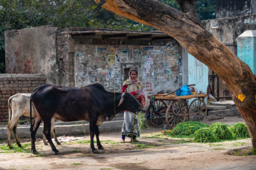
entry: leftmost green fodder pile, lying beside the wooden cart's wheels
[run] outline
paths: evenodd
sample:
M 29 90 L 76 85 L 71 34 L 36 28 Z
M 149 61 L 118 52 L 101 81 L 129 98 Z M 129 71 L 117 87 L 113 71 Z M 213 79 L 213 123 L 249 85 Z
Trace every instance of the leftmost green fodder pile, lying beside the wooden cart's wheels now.
M 170 131 L 171 136 L 191 136 L 193 138 L 193 134 L 198 129 L 202 127 L 209 127 L 207 124 L 203 124 L 201 122 L 182 122 L 177 124 L 172 131 Z

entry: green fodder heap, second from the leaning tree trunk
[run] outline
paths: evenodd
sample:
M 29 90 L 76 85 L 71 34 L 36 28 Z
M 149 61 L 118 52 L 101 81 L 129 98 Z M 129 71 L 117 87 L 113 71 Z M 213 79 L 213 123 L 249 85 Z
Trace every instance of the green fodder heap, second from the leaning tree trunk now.
M 210 127 L 212 133 L 219 139 L 236 139 L 236 135 L 231 131 L 230 126 L 216 122 Z

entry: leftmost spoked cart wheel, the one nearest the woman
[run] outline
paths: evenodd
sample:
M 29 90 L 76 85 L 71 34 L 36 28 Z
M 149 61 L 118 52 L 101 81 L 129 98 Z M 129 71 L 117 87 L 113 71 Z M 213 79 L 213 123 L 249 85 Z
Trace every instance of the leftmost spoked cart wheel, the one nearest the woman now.
M 154 127 L 162 127 L 164 125 L 166 108 L 167 106 L 164 101 L 155 101 L 154 106 L 152 106 L 152 110 L 150 111 L 150 123 L 154 125 Z

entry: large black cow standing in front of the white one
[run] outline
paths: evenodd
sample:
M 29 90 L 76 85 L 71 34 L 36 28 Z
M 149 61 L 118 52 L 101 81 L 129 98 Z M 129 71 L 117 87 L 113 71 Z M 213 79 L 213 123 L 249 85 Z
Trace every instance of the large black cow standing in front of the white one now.
M 115 113 L 131 111 L 136 113 L 141 110 L 140 103 L 129 93 L 108 92 L 99 83 L 85 87 L 60 87 L 55 85 L 41 85 L 36 87 L 31 94 L 31 104 L 36 108 L 34 122 L 31 122 L 31 150 L 38 154 L 35 148 L 35 135 L 41 120 L 44 122 L 44 134 L 52 150 L 58 150 L 51 139 L 51 119 L 56 118 L 65 122 L 86 120 L 90 122 L 91 148 L 94 153 L 99 153 L 94 148 L 93 138 L 96 134 L 97 146 L 104 148 L 99 140 L 99 125 L 108 117 L 111 120 Z

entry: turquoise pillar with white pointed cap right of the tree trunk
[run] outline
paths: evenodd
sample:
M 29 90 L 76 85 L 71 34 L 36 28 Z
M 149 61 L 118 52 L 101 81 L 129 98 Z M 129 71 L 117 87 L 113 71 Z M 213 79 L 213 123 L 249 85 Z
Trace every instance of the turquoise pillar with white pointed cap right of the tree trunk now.
M 237 37 L 237 57 L 256 74 L 256 30 L 244 31 Z

